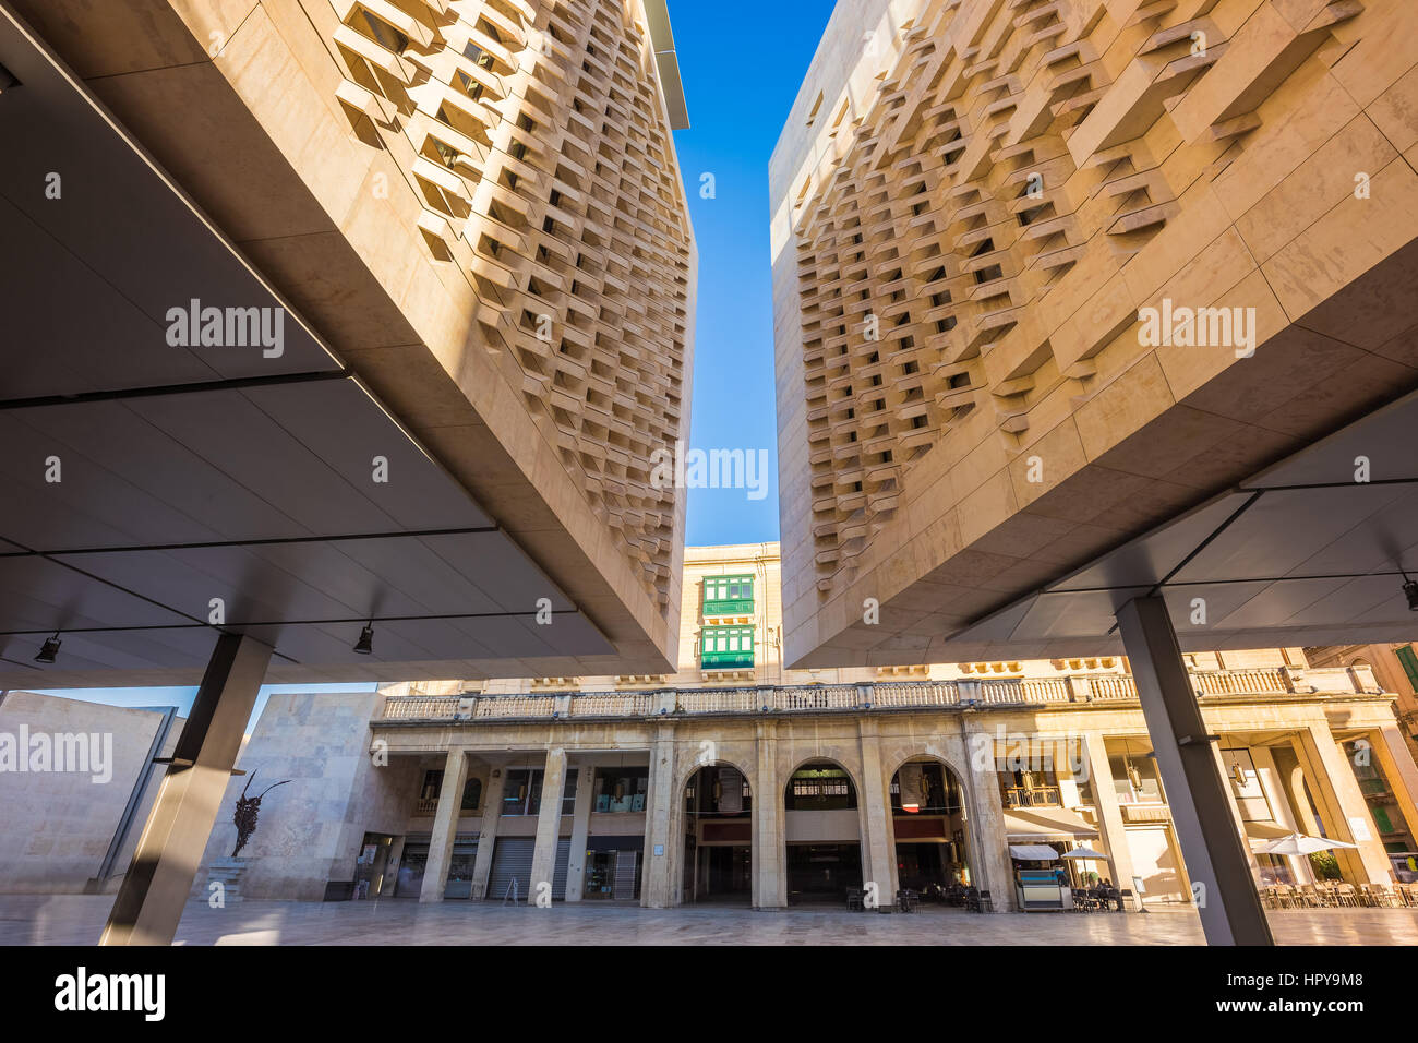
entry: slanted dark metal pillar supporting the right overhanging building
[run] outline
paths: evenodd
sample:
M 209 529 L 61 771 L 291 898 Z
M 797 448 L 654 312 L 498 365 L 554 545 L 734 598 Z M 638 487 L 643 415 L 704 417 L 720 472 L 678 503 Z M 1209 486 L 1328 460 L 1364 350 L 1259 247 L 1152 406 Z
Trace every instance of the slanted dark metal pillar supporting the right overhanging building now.
M 1273 945 L 1249 853 L 1161 596 L 1117 610 L 1173 829 L 1211 945 Z M 1198 890 L 1200 884 L 1200 890 Z

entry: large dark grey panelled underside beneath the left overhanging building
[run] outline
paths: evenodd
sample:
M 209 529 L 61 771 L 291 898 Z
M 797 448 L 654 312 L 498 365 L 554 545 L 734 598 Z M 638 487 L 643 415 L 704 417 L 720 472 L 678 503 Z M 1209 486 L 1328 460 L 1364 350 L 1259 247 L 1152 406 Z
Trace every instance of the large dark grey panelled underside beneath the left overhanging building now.
M 7 17 L 0 64 L 0 687 L 196 681 L 216 610 L 277 681 L 615 651 Z M 173 343 L 193 301 L 279 353 Z

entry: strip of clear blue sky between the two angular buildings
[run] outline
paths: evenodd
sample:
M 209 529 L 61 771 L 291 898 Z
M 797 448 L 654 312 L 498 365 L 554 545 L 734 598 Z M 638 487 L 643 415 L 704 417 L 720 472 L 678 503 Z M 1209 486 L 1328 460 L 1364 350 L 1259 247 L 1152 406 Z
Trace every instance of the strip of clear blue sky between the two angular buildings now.
M 767 497 L 691 490 L 691 545 L 778 538 L 769 156 L 834 0 L 669 0 L 689 129 L 675 149 L 699 243 L 691 448 L 767 450 Z M 747 27 L 747 28 L 746 28 Z M 715 199 L 700 199 L 700 176 Z

